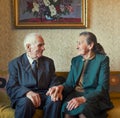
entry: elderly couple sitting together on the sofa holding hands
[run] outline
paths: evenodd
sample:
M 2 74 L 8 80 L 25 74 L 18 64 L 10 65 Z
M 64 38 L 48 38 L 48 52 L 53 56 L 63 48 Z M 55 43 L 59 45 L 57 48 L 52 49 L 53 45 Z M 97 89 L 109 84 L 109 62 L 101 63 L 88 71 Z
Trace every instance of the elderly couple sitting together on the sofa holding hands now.
M 79 55 L 72 59 L 68 77 L 59 85 L 53 60 L 43 56 L 44 45 L 40 34 L 28 34 L 25 53 L 9 63 L 6 89 L 15 118 L 32 118 L 36 108 L 43 109 L 44 118 L 106 118 L 107 110 L 113 107 L 109 98 L 109 57 L 96 36 L 80 33 Z

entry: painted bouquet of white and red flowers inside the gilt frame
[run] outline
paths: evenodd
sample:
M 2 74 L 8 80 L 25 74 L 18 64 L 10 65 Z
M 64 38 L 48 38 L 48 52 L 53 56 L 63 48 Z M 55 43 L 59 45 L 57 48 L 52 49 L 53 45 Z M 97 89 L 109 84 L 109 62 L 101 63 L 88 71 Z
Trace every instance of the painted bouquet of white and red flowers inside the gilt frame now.
M 27 0 L 26 12 L 46 20 L 59 20 L 73 12 L 72 0 Z

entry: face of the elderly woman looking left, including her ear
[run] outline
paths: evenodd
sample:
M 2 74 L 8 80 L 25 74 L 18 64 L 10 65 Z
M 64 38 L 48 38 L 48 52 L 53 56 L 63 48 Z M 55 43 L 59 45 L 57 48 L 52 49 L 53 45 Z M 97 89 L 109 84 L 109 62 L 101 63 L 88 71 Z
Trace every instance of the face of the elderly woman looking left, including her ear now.
M 92 49 L 91 44 L 87 44 L 86 38 L 86 36 L 81 35 L 77 43 L 78 54 L 82 56 L 88 55 Z

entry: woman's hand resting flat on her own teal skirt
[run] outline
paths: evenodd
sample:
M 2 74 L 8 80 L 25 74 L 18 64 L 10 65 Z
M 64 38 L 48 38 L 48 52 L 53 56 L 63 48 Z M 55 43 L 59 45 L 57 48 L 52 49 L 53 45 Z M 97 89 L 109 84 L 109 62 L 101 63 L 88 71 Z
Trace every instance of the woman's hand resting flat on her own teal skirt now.
M 86 99 L 85 97 L 76 97 L 76 98 L 73 98 L 72 100 L 70 100 L 67 104 L 67 109 L 69 111 L 77 108 L 78 106 L 80 106 L 81 104 L 85 103 L 86 102 Z

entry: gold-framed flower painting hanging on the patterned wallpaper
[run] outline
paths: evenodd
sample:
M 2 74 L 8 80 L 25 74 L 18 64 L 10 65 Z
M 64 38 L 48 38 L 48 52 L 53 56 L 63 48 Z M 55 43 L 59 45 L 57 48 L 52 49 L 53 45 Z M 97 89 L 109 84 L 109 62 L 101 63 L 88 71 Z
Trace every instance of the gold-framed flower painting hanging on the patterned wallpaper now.
M 13 0 L 16 28 L 86 28 L 87 0 Z

